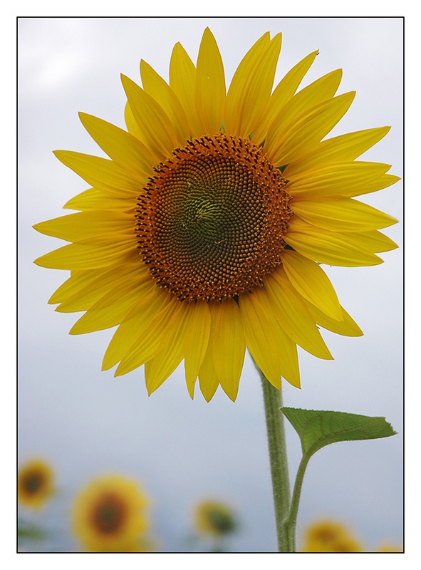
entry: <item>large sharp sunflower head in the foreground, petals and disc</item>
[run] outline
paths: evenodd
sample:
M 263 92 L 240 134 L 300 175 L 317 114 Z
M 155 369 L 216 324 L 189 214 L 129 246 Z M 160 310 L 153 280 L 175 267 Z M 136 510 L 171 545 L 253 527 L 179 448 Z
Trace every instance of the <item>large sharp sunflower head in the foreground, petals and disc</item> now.
M 396 182 L 390 165 L 355 160 L 389 128 L 326 139 L 354 92 L 341 70 L 298 90 L 317 51 L 273 89 L 281 34 L 249 49 L 228 89 L 207 28 L 194 65 L 177 43 L 170 81 L 140 62 L 142 87 L 123 76 L 127 130 L 80 113 L 110 157 L 56 151 L 88 190 L 77 213 L 36 224 L 67 244 L 38 265 L 71 271 L 48 301 L 85 311 L 71 334 L 118 326 L 103 370 L 145 364 L 148 393 L 184 360 L 209 401 L 235 400 L 248 348 L 269 382 L 300 386 L 297 345 L 331 359 L 319 327 L 362 331 L 320 264 L 368 266 L 396 244 L 396 220 L 355 199 Z

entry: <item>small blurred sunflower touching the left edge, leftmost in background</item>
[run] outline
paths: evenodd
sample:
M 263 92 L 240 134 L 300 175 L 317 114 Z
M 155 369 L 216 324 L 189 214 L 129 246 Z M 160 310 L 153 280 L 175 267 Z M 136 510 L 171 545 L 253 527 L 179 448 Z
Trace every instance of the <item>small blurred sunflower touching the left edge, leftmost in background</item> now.
M 41 509 L 54 492 L 53 470 L 41 459 L 33 459 L 18 472 L 18 502 L 28 509 Z

